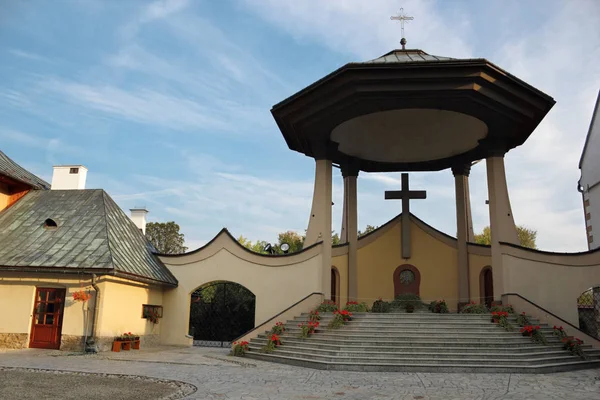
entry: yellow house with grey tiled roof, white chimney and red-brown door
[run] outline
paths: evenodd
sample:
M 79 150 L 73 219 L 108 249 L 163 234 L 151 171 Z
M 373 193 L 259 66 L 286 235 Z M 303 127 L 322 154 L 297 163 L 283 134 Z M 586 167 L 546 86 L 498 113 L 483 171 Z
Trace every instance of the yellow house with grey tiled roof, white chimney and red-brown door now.
M 159 342 L 177 279 L 86 174 L 55 167 L 52 190 L 0 152 L 0 348 L 106 350 L 124 332 Z

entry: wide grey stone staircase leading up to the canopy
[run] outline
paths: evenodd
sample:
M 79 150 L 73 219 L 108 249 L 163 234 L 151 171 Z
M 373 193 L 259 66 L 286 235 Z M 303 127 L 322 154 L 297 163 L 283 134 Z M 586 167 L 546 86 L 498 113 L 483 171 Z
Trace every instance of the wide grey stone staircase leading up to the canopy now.
M 250 341 L 247 357 L 302 367 L 339 371 L 549 373 L 600 367 L 600 350 L 584 344 L 586 360 L 563 350 L 552 327 L 539 324 L 548 345 L 490 322 L 490 315 L 354 313 L 340 329 L 328 329 L 333 315 L 323 313 L 320 329 L 300 337 L 303 314 L 286 323 L 282 346 L 266 354 L 267 334 Z

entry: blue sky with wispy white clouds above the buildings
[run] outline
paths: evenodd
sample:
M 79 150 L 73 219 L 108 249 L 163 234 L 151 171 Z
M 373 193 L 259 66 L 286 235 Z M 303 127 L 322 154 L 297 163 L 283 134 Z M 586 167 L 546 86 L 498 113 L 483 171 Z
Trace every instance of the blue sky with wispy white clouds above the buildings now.
M 486 58 L 557 104 L 506 173 L 517 224 L 538 247 L 587 250 L 578 162 L 600 89 L 597 0 L 4 0 L 0 149 L 50 181 L 82 164 L 87 188 L 128 213 L 175 221 L 195 249 L 223 227 L 276 241 L 306 229 L 314 160 L 289 150 L 271 107 L 348 62 L 399 47 Z M 342 178 L 334 169 L 333 227 Z M 489 224 L 485 163 L 471 171 L 475 231 Z M 400 210 L 400 173 L 361 173 L 359 228 Z M 411 173 L 411 211 L 455 236 L 449 170 Z

